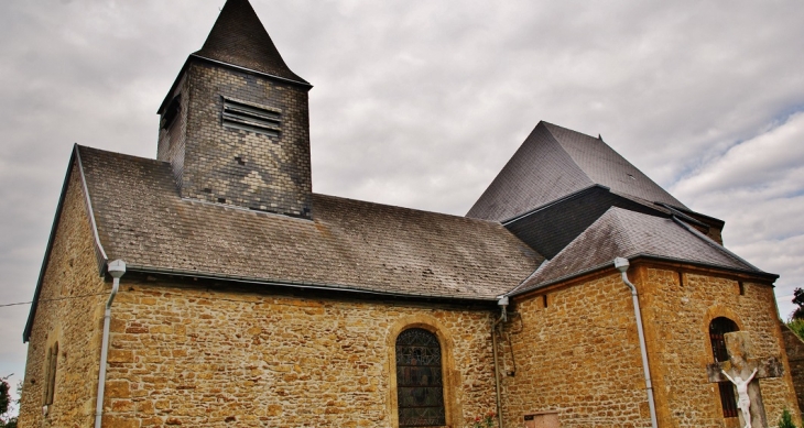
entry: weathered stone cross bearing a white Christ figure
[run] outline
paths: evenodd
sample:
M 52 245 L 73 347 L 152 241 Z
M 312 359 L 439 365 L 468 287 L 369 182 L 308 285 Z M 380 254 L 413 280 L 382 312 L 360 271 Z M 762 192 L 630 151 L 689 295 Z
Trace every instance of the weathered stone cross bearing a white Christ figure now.
M 747 331 L 734 331 L 725 334 L 726 352 L 729 354 L 729 361 L 711 363 L 706 366 L 706 373 L 709 382 L 730 382 L 724 375 L 728 373 L 731 378 L 740 376 L 746 380 L 751 377 L 751 373 L 757 370 L 753 380 L 748 384 L 748 396 L 751 398 L 751 428 L 767 428 L 768 418 L 765 417 L 764 406 L 762 406 L 762 394 L 759 388 L 759 380 L 765 377 L 780 377 L 784 374 L 784 366 L 776 356 L 764 359 L 752 358 L 751 341 Z M 748 422 L 739 414 L 740 426 L 747 427 Z

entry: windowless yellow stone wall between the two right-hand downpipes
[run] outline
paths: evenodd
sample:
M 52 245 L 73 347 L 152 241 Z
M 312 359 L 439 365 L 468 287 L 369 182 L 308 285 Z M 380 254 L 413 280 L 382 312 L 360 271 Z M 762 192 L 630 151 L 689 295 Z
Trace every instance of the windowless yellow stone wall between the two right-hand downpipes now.
M 506 328 L 512 349 L 500 347 L 506 427 L 541 411 L 557 411 L 562 427 L 650 426 L 631 297 L 619 275 L 530 296 L 515 310 Z

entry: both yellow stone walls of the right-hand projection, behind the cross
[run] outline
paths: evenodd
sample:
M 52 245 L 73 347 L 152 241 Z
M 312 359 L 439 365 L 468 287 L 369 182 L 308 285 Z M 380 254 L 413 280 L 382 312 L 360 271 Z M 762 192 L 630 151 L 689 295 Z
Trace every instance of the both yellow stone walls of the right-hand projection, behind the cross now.
M 751 333 L 756 356 L 783 361 L 784 377 L 760 381 L 769 422 L 796 408 L 771 286 L 746 282 L 740 295 L 737 278 L 659 265 L 632 266 L 629 277 L 640 293 L 660 427 L 738 426 L 722 417 L 706 375 L 708 326 L 719 316 Z M 558 411 L 562 427 L 650 426 L 631 295 L 619 274 L 524 296 L 515 309 L 504 331 L 511 347 L 500 347 L 508 426 L 539 411 Z

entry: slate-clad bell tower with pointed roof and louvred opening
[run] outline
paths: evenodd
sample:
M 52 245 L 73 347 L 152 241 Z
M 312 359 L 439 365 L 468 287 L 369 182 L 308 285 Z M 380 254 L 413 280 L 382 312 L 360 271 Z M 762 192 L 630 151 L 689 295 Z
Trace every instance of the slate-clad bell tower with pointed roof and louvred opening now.
M 312 218 L 311 88 L 248 0 L 228 0 L 159 110 L 182 197 Z

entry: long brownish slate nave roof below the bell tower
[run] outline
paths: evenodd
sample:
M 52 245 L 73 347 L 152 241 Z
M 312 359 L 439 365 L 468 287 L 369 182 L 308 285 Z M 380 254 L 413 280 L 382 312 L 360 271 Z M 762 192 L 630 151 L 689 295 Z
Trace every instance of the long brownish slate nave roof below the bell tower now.
M 543 260 L 497 222 L 316 194 L 314 221 L 192 201 L 169 163 L 77 150 L 101 245 L 130 271 L 493 299 Z

